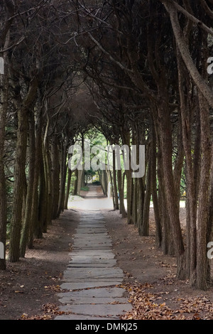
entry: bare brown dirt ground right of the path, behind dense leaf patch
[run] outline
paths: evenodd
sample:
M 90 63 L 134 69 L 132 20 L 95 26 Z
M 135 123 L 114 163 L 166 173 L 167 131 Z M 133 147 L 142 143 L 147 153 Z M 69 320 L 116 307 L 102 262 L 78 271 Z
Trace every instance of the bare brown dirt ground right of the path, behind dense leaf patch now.
M 121 219 L 119 211 L 105 210 L 104 215 L 109 235 L 113 240 L 117 265 L 126 274 L 124 284 L 138 286 L 135 289 L 136 311 L 140 298 L 149 298 L 150 295 L 148 308 L 150 302 L 165 305 L 172 310 L 173 316 L 177 314 L 177 320 L 213 319 L 212 288 L 209 291 L 198 291 L 190 288 L 188 281 L 175 279 L 175 257 L 163 255 L 156 249 L 153 209 L 150 213 L 151 231 L 148 237 L 140 237 L 136 227 L 127 225 L 126 219 Z M 182 221 L 185 220 L 184 208 L 180 209 L 180 219 L 181 217 Z M 139 293 L 139 289 L 143 293 Z M 134 302 L 134 299 L 132 300 Z M 162 320 L 164 319 L 162 316 Z

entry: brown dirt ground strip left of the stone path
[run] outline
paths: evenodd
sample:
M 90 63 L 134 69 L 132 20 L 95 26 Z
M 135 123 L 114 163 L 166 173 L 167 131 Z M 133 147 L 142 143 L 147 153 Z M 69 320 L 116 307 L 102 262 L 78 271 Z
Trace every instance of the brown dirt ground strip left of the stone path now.
M 0 271 L 0 320 L 53 318 L 60 279 L 70 257 L 79 213 L 65 210 L 26 257 Z

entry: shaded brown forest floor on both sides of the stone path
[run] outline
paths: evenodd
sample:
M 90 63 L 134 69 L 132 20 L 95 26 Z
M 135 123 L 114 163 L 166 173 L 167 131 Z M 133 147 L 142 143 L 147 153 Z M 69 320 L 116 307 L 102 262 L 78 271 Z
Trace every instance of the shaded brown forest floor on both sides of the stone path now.
M 126 274 L 122 286 L 133 304 L 133 310 L 123 318 L 212 319 L 212 289 L 195 291 L 187 281 L 177 281 L 175 258 L 155 248 L 153 209 L 150 236 L 139 237 L 136 227 L 127 225 L 118 211 L 108 208 L 106 198 L 99 200 L 117 264 Z M 0 271 L 0 320 L 53 319 L 58 314 L 57 293 L 82 207 L 83 199 L 72 210 L 65 210 L 43 239 L 35 240 L 26 258 L 8 263 L 6 271 Z M 180 209 L 180 219 L 184 227 L 184 208 Z

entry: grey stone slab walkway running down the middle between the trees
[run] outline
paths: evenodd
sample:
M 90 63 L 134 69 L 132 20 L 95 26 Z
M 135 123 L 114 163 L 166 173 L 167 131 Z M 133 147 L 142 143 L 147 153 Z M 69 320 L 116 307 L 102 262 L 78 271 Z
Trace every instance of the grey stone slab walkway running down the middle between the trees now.
M 124 297 L 126 290 L 118 287 L 124 274 L 116 266 L 104 217 L 98 207 L 92 207 L 92 202 L 92 210 L 88 210 L 94 195 L 96 192 L 90 191 L 91 199 L 85 200 L 86 210 L 81 214 L 70 262 L 64 271 L 61 288 L 68 292 L 58 293 L 60 311 L 69 314 L 55 320 L 114 320 L 132 308 Z

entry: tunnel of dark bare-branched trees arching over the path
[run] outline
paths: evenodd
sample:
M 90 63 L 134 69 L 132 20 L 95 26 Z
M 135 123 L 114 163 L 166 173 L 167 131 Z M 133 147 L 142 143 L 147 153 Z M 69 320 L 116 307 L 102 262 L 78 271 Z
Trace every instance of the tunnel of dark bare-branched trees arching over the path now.
M 9 249 L 0 269 L 82 187 L 69 147 L 102 134 L 109 145 L 146 147 L 143 178 L 99 172 L 114 209 L 143 237 L 152 201 L 156 246 L 176 257 L 177 279 L 208 289 L 213 1 L 4 0 L 0 11 L 0 242 Z

